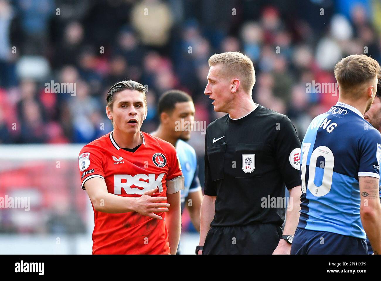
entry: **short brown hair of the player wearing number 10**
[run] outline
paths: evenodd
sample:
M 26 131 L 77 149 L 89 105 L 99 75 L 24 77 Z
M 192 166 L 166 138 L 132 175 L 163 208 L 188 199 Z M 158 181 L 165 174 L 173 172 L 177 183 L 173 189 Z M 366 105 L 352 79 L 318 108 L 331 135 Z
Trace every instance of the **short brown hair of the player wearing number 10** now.
M 336 63 L 333 71 L 340 89 L 344 93 L 356 95 L 358 99 L 362 92 L 360 89 L 376 76 L 379 77 L 380 69 L 378 62 L 371 57 L 350 55 Z

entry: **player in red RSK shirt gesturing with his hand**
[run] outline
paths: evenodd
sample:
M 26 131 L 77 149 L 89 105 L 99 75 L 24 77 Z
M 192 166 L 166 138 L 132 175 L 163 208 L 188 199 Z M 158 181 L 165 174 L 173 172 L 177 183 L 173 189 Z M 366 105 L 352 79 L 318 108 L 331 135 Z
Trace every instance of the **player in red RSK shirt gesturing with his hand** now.
M 173 145 L 141 132 L 146 88 L 118 82 L 107 94 L 114 131 L 79 155 L 94 210 L 93 254 L 176 254 L 184 177 Z

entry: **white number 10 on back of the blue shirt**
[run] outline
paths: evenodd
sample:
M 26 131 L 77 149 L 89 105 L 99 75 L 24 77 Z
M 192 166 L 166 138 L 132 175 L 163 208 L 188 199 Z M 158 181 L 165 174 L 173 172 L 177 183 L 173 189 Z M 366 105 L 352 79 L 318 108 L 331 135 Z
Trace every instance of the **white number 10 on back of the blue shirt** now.
M 310 147 L 311 147 L 311 143 L 304 143 L 302 147 L 303 156 L 302 156 L 302 164 L 301 164 L 301 180 L 302 180 L 303 193 L 306 193 L 306 166 L 307 166 L 307 158 L 308 158 Z M 317 158 L 320 156 L 324 157 L 325 165 L 323 168 L 322 184 L 320 186 L 316 186 L 315 185 L 316 168 L 321 169 L 319 167 L 316 167 L 316 161 L 317 161 Z M 307 188 L 316 197 L 324 196 L 328 192 L 330 192 L 331 185 L 332 185 L 334 165 L 335 165 L 335 159 L 333 157 L 332 151 L 328 147 L 321 145 L 317 147 L 316 149 L 314 149 L 314 151 L 311 153 L 311 157 L 309 161 Z

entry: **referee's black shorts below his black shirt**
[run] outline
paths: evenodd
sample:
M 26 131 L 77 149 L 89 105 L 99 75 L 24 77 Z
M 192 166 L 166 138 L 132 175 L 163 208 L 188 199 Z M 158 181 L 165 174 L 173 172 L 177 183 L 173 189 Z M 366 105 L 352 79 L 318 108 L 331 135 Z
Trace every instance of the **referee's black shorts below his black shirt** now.
M 212 226 L 205 239 L 203 255 L 269 254 L 278 246 L 282 228 L 271 223 L 243 226 Z

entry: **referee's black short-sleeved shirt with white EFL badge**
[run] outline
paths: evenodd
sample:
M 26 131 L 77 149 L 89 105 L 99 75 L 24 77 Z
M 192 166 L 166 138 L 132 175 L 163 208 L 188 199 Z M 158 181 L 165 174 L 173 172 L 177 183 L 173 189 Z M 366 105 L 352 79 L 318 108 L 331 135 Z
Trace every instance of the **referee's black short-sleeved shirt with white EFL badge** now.
M 300 185 L 300 147 L 290 119 L 261 105 L 237 120 L 227 114 L 210 123 L 204 193 L 216 196 L 211 226 L 255 222 L 281 226 L 285 208 L 263 208 L 262 198 L 275 197 L 278 202 L 285 197 L 285 185 L 288 189 Z

